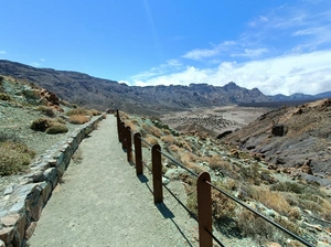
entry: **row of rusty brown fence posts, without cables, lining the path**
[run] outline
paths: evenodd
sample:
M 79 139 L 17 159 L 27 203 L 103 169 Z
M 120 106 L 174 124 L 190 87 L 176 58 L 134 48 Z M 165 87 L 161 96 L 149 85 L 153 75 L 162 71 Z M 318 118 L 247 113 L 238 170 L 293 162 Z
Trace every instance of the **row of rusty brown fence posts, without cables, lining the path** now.
M 120 120 L 119 111 L 117 110 L 117 132 L 118 140 L 121 147 L 127 152 L 128 162 L 132 162 L 132 138 L 130 127 L 126 127 L 125 122 Z M 139 132 L 134 135 L 135 144 L 135 164 L 137 175 L 142 175 L 142 152 L 141 152 L 141 135 Z M 153 198 L 154 203 L 163 202 L 163 185 L 162 185 L 162 162 L 161 162 L 161 147 L 154 144 L 151 147 L 152 157 L 152 183 L 153 183 Z M 200 247 L 212 247 L 212 195 L 211 176 L 207 172 L 202 172 L 197 176 L 196 192 L 197 192 L 197 222 L 199 222 L 199 245 Z

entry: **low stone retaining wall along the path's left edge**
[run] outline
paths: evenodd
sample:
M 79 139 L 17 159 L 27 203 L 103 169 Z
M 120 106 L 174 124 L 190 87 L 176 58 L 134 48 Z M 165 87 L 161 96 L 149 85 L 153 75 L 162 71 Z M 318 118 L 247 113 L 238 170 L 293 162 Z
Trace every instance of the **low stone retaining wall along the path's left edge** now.
M 25 247 L 41 212 L 68 167 L 81 141 L 104 116 L 79 126 L 68 139 L 52 147 L 31 165 L 31 173 L 8 186 L 0 200 L 0 247 Z

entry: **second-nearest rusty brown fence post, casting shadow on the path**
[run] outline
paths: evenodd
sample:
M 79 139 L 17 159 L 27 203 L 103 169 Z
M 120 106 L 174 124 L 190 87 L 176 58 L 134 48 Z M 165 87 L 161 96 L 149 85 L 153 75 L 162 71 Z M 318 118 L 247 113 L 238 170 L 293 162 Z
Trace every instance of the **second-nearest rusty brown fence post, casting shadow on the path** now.
M 161 163 L 161 147 L 154 144 L 152 147 L 152 173 L 153 173 L 153 193 L 154 203 L 163 202 L 163 187 L 162 187 L 162 163 Z

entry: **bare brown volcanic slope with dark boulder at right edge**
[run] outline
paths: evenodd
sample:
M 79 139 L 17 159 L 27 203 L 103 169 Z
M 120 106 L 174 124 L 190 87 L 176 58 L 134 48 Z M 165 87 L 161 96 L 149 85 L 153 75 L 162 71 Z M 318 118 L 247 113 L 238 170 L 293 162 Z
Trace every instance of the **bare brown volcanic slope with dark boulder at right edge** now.
M 269 111 L 224 138 L 261 153 L 274 168 L 331 175 L 331 98 Z

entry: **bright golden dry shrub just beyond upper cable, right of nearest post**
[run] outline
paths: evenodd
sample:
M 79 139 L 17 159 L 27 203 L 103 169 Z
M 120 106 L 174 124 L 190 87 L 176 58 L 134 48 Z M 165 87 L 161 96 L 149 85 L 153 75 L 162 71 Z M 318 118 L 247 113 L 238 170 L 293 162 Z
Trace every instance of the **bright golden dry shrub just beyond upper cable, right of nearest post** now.
M 259 189 L 256 200 L 264 204 L 266 207 L 273 208 L 278 213 L 282 213 L 284 215 L 287 215 L 291 210 L 291 206 L 281 193 L 269 191 L 265 187 Z

